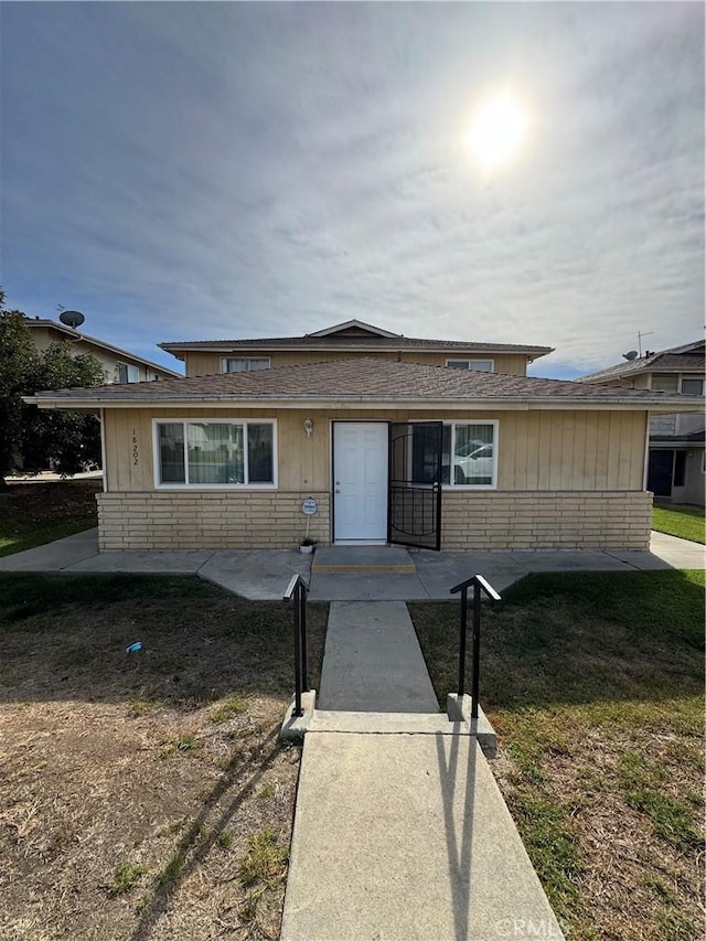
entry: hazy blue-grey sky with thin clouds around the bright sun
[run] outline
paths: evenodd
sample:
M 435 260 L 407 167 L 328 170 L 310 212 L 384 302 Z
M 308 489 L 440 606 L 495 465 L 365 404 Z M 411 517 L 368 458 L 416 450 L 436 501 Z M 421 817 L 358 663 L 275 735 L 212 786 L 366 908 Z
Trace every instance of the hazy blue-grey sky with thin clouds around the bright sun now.
M 573 378 L 702 339 L 698 2 L 4 2 L 7 306 L 162 341 L 556 347 Z M 468 147 L 511 94 L 512 159 Z M 638 332 L 648 334 L 639 343 Z

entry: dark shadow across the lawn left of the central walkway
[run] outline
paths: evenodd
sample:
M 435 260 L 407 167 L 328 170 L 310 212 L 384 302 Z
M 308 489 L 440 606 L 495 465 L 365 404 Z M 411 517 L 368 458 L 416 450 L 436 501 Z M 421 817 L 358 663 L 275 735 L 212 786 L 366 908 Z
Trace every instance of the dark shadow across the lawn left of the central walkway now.
M 318 683 L 327 606 L 309 606 Z M 247 601 L 194 577 L 0 575 L 0 702 L 140 699 L 202 706 L 288 698 L 291 607 Z M 139 641 L 142 649 L 127 653 Z

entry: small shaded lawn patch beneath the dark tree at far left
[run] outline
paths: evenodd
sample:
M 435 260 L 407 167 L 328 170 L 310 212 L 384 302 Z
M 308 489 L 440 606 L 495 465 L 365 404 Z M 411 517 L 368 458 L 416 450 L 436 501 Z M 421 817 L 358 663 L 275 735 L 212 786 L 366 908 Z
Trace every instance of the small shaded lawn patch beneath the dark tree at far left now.
M 98 525 L 100 480 L 11 481 L 0 490 L 0 556 Z

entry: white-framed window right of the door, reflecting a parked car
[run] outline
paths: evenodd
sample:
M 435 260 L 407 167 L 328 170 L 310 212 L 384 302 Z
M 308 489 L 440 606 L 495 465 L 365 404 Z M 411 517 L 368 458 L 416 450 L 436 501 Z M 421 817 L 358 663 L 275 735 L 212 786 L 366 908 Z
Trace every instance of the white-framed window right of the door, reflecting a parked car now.
M 414 426 L 413 426 L 414 427 Z M 445 424 L 441 439 L 441 483 L 447 486 L 493 489 L 498 484 L 498 421 Z M 419 428 L 413 439 L 413 475 L 431 483 L 436 473 L 432 439 Z M 453 468 L 453 471 L 451 471 Z

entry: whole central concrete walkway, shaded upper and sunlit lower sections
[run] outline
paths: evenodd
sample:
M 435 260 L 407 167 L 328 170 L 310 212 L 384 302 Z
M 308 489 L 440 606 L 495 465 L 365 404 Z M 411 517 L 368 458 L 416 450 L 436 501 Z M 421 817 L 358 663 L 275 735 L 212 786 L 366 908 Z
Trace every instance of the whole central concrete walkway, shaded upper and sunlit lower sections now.
M 530 922 L 563 937 L 475 737 L 439 713 L 403 602 L 332 602 L 317 705 L 282 941 L 484 941 Z

